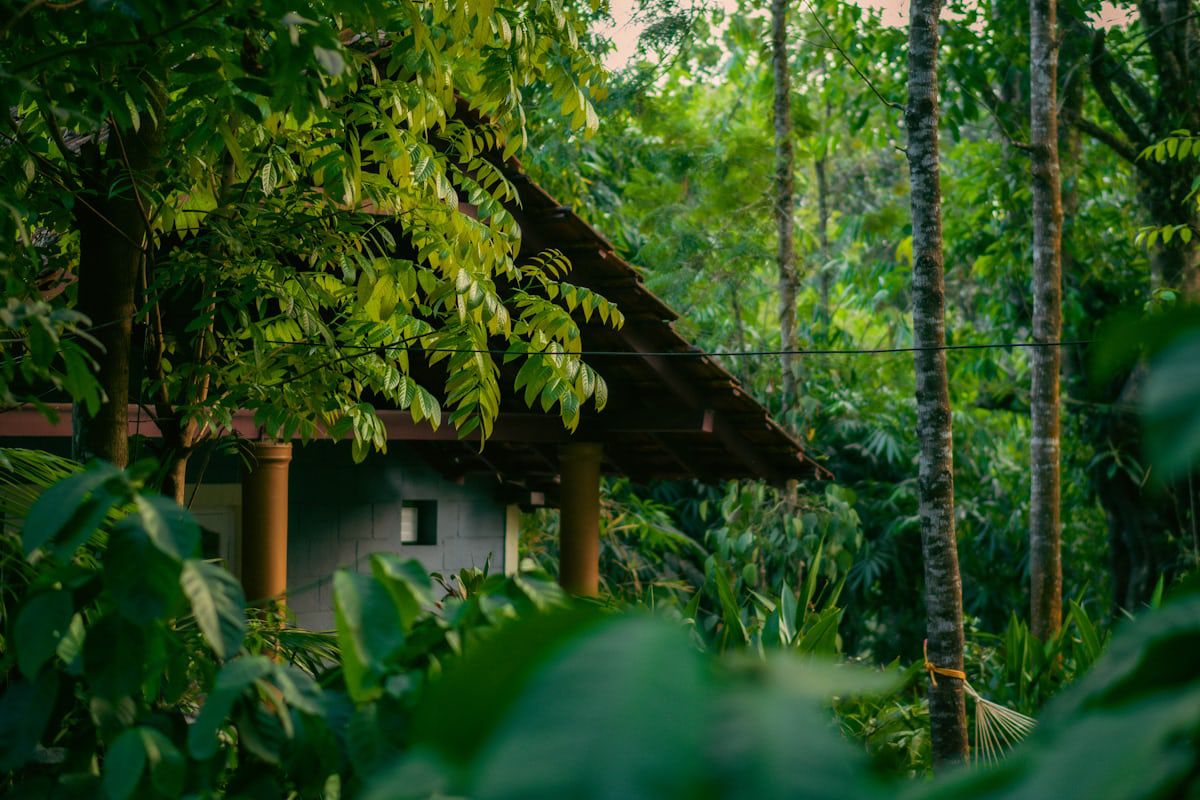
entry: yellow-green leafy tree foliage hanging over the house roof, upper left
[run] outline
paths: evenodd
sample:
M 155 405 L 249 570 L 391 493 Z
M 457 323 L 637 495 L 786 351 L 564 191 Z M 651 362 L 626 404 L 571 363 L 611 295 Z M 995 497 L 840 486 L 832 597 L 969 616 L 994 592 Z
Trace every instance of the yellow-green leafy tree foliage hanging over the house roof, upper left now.
M 595 128 L 599 66 L 570 7 L 10 5 L 0 236 L 25 246 L 4 253 L 8 296 L 83 302 L 73 276 L 103 246 L 80 239 L 89 215 L 132 239 L 138 397 L 175 457 L 241 409 L 286 438 L 350 434 L 360 457 L 385 447 L 378 405 L 484 439 L 502 360 L 568 427 L 604 405 L 572 313 L 620 311 L 562 283 L 560 254 L 518 258 L 502 170 L 527 138 L 526 84 Z M 0 399 L 49 380 L 94 411 L 72 338 L 86 320 L 29 300 L 0 315 L 23 345 Z

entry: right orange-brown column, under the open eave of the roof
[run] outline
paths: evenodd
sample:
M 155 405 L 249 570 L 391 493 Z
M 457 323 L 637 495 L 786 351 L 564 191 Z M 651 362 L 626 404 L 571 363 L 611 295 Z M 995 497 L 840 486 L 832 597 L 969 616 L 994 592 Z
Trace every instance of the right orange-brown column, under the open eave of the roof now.
M 604 449 L 590 441 L 568 443 L 558 451 L 558 583 L 572 595 L 600 594 L 602 455 Z

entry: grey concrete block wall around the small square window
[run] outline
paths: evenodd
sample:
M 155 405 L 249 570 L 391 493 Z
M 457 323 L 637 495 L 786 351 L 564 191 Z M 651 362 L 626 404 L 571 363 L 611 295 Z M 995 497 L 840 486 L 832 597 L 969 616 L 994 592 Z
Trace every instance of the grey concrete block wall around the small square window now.
M 361 464 L 348 445 L 296 444 L 288 491 L 288 607 L 296 622 L 332 628 L 334 571 L 366 573 L 372 553 L 398 553 L 443 575 L 491 558 L 491 571 L 504 572 L 508 512 L 496 488 L 486 476 L 446 481 L 398 443 Z M 400 510 L 412 500 L 437 503 L 437 543 L 401 543 Z

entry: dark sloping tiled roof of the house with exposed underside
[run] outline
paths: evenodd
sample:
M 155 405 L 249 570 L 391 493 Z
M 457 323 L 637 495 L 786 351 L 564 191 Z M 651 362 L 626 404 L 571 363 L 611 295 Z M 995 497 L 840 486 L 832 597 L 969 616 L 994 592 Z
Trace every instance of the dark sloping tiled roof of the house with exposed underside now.
M 515 160 L 504 172 L 521 200 L 510 209 L 521 225 L 521 257 L 547 248 L 563 252 L 572 264 L 568 279 L 616 302 L 625 315 L 617 331 L 580 320 L 584 359 L 605 378 L 608 404 L 600 414 L 586 410 L 574 439 L 602 443 L 607 473 L 642 481 L 773 483 L 828 474 L 732 374 L 674 330 L 678 315 L 612 243 L 538 186 Z M 512 374 L 504 378 L 502 386 L 511 386 Z M 506 390 L 500 408 L 524 405 Z M 533 416 L 502 411 L 482 451 L 476 443 L 440 437 L 416 446 L 445 474 L 486 470 L 505 483 L 553 492 L 557 443 L 569 437 L 557 420 L 529 420 Z

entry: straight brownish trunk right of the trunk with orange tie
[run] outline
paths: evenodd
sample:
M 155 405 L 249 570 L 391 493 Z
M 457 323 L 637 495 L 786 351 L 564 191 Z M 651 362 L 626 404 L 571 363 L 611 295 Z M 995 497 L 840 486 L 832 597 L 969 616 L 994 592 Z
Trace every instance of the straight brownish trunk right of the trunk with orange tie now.
M 1062 338 L 1062 182 L 1058 170 L 1056 0 L 1030 0 L 1030 148 L 1033 190 L 1033 341 Z M 1058 380 L 1062 351 L 1032 351 L 1030 417 L 1030 628 L 1040 642 L 1062 627 Z

